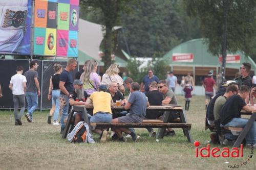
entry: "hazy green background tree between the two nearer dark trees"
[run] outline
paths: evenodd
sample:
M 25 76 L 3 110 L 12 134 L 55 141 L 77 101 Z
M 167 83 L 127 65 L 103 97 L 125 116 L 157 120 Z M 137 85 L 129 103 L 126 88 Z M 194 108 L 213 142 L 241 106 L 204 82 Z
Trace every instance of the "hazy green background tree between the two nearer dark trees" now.
M 130 6 L 133 12 L 121 15 L 123 32 L 118 38 L 132 56 L 161 57 L 181 42 L 201 38 L 199 19 L 188 18 L 181 1 L 144 0 Z

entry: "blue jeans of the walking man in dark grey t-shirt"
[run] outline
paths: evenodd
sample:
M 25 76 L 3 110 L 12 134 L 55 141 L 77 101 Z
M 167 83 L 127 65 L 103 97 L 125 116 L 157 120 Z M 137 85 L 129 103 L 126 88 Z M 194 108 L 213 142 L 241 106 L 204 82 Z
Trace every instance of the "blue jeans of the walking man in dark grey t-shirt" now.
M 37 92 L 26 92 L 26 99 L 27 99 L 27 103 L 28 103 L 28 113 L 30 115 L 31 120 L 33 120 L 32 114 L 38 105 Z

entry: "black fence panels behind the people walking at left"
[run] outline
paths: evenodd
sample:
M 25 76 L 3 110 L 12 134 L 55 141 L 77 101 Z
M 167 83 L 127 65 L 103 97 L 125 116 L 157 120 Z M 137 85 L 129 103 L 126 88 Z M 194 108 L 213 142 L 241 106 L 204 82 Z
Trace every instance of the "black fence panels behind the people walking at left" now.
M 30 60 L 0 60 L 0 84 L 2 86 L 3 98 L 0 98 L 0 109 L 12 109 L 13 100 L 12 100 L 12 91 L 9 89 L 9 83 L 11 77 L 16 74 L 16 67 L 23 66 L 24 71 L 23 75 L 27 70 L 29 70 L 29 61 Z M 35 60 L 38 64 L 38 81 L 41 89 L 41 95 L 38 98 L 38 107 L 37 109 L 49 109 L 52 107 L 52 101 L 47 99 L 50 78 L 54 74 L 53 65 L 59 63 L 65 69 L 67 61 L 43 61 Z M 78 65 L 78 63 L 77 63 Z M 75 78 L 75 73 L 77 70 L 72 71 L 73 78 Z M 27 107 L 27 101 L 26 101 Z

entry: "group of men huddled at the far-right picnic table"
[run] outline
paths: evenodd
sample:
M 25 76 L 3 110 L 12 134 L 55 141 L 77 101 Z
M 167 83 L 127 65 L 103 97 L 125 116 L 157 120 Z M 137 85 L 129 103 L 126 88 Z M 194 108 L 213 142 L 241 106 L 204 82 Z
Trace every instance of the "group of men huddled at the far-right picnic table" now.
M 253 107 L 253 96 L 256 96 L 256 87 L 252 87 L 252 79 L 249 75 L 251 65 L 243 63 L 240 67 L 241 76 L 234 81 L 223 84 L 216 95 L 213 96 L 206 110 L 206 125 L 215 126 L 217 134 L 221 135 L 221 127 L 244 128 L 248 119 L 241 118 L 241 110 L 246 112 L 255 111 Z M 210 75 L 209 75 L 210 76 Z M 251 103 L 252 105 L 247 105 Z M 225 133 L 221 137 L 224 145 L 232 143 L 236 136 Z M 256 123 L 254 122 L 246 135 L 247 145 L 256 145 Z

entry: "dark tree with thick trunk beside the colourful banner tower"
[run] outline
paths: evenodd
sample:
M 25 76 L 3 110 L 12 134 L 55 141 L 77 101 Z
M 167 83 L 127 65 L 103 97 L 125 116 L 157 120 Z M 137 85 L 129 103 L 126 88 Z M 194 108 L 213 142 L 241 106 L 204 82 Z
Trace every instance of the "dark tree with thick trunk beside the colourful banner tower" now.
M 125 0 L 81 0 L 81 9 L 88 9 L 88 11 L 95 11 L 102 14 L 102 28 L 104 33 L 103 47 L 103 57 L 102 62 L 104 63 L 103 69 L 106 70 L 111 65 L 111 54 L 114 48 L 115 33 L 112 32 L 114 26 L 120 23 L 120 13 L 129 12 L 129 8 L 126 7 L 127 4 L 133 3 L 135 1 L 125 1 Z M 100 11 L 99 11 L 100 9 Z

